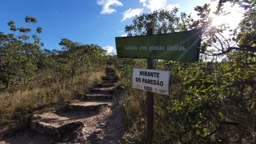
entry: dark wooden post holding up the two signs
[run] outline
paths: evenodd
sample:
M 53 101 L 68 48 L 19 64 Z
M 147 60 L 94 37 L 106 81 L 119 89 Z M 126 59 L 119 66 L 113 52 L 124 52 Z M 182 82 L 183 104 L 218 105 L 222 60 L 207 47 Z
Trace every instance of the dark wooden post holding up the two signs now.
M 155 23 L 147 24 L 147 35 L 155 34 Z M 155 60 L 147 59 L 147 68 L 156 69 Z M 153 128 L 154 128 L 154 93 L 147 91 L 147 141 L 148 144 L 153 144 Z

